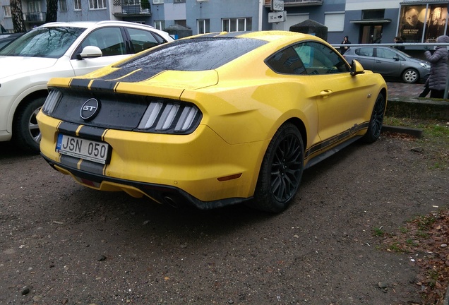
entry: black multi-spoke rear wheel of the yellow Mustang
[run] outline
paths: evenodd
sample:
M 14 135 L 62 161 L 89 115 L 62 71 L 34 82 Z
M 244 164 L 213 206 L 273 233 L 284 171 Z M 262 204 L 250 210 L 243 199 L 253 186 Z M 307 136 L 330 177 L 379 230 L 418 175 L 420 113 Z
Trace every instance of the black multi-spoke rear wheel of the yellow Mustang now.
M 270 213 L 287 209 L 301 183 L 304 144 L 293 124 L 282 125 L 268 145 L 254 193 L 252 208 Z

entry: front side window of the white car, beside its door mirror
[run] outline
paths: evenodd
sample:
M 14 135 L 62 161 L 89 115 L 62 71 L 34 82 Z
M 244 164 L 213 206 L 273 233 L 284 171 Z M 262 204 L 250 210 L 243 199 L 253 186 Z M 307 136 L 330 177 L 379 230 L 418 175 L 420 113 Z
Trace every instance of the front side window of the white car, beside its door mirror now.
M 126 54 L 125 42 L 120 28 L 100 28 L 91 32 L 78 47 L 76 53 L 80 53 L 86 46 L 99 47 L 103 56 Z

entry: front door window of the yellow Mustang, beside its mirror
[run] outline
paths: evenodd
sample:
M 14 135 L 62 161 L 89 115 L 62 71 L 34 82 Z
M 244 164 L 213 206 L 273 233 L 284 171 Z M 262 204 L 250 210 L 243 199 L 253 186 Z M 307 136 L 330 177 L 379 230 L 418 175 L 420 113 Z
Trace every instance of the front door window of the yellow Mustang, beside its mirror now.
M 303 42 L 293 48 L 309 75 L 349 72 L 345 61 L 325 44 Z

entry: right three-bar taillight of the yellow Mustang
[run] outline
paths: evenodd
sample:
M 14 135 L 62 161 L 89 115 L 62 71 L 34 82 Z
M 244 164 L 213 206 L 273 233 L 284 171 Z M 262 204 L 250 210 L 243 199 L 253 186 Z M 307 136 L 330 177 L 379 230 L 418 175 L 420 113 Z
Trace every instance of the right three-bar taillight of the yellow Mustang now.
M 156 133 L 191 133 L 201 117 L 200 110 L 194 104 L 157 100 L 148 105 L 138 129 Z

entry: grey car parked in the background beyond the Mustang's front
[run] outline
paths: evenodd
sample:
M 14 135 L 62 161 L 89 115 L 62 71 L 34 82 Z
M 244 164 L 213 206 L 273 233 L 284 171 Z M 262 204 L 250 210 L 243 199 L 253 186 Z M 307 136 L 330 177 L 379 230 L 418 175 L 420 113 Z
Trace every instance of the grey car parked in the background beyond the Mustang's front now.
M 347 61 L 356 59 L 366 70 L 385 78 L 400 78 L 405 83 L 424 82 L 430 74 L 429 62 L 392 47 L 350 47 L 344 56 Z

